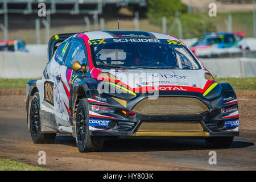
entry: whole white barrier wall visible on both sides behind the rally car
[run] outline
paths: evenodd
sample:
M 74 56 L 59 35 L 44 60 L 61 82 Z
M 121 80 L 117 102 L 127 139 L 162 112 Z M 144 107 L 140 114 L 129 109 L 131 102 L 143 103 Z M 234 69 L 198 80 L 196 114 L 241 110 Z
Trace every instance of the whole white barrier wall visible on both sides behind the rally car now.
M 256 77 L 256 59 L 200 59 L 214 77 Z M 27 52 L 0 52 L 1 78 L 40 78 L 46 68 L 47 56 Z

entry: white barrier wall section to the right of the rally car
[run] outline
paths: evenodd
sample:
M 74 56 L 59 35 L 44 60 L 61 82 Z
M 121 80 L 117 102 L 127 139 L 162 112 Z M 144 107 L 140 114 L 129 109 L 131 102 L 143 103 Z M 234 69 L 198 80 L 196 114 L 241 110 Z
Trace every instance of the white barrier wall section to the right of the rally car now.
M 214 77 L 256 77 L 256 59 L 253 58 L 211 58 L 199 60 Z

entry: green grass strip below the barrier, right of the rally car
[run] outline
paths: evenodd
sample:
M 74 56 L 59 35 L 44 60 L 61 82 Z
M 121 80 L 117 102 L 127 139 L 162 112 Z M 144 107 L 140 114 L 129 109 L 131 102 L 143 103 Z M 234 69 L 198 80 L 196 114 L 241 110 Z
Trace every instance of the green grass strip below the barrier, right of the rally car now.
M 256 90 L 256 78 L 216 78 L 217 82 L 228 82 L 235 90 Z

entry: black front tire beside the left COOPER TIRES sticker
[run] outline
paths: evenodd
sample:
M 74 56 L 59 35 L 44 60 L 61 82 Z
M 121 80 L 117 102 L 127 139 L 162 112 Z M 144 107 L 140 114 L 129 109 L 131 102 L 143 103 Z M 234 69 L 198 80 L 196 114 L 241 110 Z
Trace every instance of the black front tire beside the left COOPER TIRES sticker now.
M 100 151 L 104 144 L 103 136 L 90 136 L 88 101 L 82 98 L 76 112 L 76 144 L 80 152 Z

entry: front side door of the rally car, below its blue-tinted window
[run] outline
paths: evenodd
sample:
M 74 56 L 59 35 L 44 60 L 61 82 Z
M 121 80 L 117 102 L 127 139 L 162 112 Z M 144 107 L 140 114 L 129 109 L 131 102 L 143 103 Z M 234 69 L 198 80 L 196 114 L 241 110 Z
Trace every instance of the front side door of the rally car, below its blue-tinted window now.
M 72 64 L 75 61 L 78 61 L 81 65 L 85 64 L 86 61 L 86 49 L 84 42 L 80 38 L 74 38 L 69 48 L 65 64 L 60 68 L 60 83 L 61 83 L 61 92 L 60 92 L 60 102 L 61 105 L 56 107 L 56 117 L 57 122 L 60 125 L 72 125 L 72 87 L 76 81 L 81 81 L 82 73 L 81 71 L 73 71 Z

